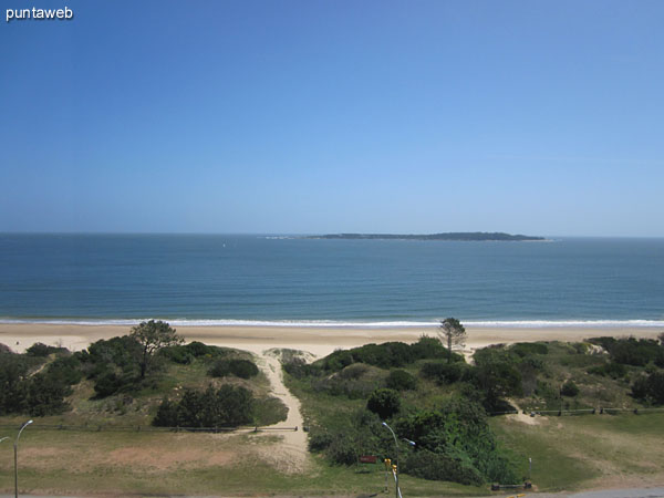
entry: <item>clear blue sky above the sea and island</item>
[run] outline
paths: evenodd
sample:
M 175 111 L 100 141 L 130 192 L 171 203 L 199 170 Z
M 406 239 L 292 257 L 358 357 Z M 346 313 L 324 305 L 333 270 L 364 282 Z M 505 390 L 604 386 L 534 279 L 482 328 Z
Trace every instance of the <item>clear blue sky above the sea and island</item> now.
M 1 7 L 0 231 L 664 237 L 663 1 Z

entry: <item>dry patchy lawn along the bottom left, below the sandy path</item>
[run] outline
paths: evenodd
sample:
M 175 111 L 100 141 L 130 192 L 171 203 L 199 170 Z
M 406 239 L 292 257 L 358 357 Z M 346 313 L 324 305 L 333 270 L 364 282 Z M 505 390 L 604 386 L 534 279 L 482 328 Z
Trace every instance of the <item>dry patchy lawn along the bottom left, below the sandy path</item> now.
M 381 492 L 382 467 L 329 466 L 317 458 L 301 475 L 269 458 L 274 434 L 193 434 L 40 430 L 28 427 L 19 446 L 20 490 L 25 494 L 121 495 L 357 495 Z M 0 437 L 6 433 L 0 430 Z M 0 444 L 0 492 L 13 490 L 13 450 Z M 403 476 L 407 496 L 468 496 L 486 488 Z M 394 481 L 388 480 L 390 492 Z

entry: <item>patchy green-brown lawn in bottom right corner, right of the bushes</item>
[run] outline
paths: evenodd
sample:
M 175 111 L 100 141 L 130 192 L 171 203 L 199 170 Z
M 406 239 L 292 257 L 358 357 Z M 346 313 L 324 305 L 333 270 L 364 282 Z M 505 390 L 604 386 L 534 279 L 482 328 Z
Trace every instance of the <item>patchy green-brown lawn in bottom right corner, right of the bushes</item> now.
M 491 428 L 540 490 L 664 483 L 664 414 L 495 417 Z

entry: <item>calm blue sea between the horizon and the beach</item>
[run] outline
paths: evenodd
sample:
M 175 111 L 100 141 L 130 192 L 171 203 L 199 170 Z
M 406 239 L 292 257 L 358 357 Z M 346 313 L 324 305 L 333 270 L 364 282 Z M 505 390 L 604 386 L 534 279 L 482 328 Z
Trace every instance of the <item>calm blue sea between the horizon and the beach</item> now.
M 0 235 L 0 321 L 664 326 L 664 239 Z M 513 323 L 519 322 L 519 323 Z

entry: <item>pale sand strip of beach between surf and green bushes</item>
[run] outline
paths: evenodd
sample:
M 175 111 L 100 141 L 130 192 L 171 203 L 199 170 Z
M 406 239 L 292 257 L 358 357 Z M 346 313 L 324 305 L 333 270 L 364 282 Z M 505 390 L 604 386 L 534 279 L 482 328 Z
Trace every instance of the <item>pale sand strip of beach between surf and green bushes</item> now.
M 55 325 L 55 324 L 1 324 L 0 343 L 13 351 L 23 352 L 35 342 L 63 345 L 81 351 L 100 339 L 128 334 L 125 325 Z M 655 339 L 658 328 L 467 328 L 466 349 L 475 350 L 489 344 L 528 341 L 581 341 L 587 338 L 634 335 Z M 386 341 L 414 342 L 422 334 L 435 336 L 436 328 L 417 329 L 331 329 L 289 326 L 178 326 L 177 332 L 187 341 L 238 347 L 261 353 L 271 347 L 291 347 L 324 356 L 336 349 Z

